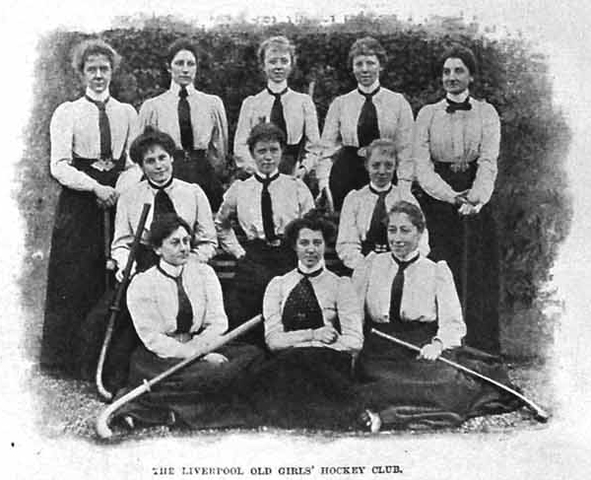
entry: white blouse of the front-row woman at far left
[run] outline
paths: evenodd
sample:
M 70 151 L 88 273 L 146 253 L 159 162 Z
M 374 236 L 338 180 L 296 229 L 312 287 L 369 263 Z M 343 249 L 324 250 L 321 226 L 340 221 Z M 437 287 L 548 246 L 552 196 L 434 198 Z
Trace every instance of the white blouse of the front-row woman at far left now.
M 203 263 L 189 260 L 184 267 L 174 267 L 161 260 L 160 266 L 173 277 L 182 275 L 183 288 L 193 309 L 190 332 L 200 333 L 186 343 L 171 336 L 177 328 L 177 286 L 156 267 L 132 279 L 127 290 L 129 313 L 148 350 L 162 358 L 187 358 L 227 330 L 222 289 L 213 269 Z

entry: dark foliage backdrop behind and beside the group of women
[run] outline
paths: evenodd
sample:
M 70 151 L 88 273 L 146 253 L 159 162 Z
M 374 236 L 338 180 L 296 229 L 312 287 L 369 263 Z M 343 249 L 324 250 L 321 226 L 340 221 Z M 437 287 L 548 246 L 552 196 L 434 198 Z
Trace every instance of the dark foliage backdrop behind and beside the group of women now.
M 167 45 L 189 36 L 201 49 L 196 85 L 224 101 L 232 141 L 242 100 L 260 91 L 263 76 L 256 51 L 262 39 L 287 35 L 297 48 L 292 88 L 307 91 L 314 82 L 314 101 L 320 126 L 332 99 L 355 87 L 347 65 L 349 47 L 364 35 L 376 37 L 388 60 L 381 83 L 404 93 L 416 115 L 421 106 L 441 97 L 434 75 L 437 57 L 452 41 L 469 46 L 480 72 L 472 93 L 493 104 L 501 117 L 502 143 L 499 176 L 493 197 L 501 241 L 503 350 L 513 356 L 532 356 L 551 339 L 553 322 L 540 308 L 547 292 L 558 244 L 567 236 L 572 217 L 564 162 L 569 128 L 552 104 L 552 84 L 546 59 L 535 45 L 520 36 L 498 37 L 478 25 L 458 19 L 427 24 L 396 17 L 357 16 L 345 23 L 321 25 L 307 19 L 297 24 L 255 25 L 234 22 L 208 30 L 171 18 L 136 22 L 120 19 L 120 26 L 101 37 L 123 56 L 112 94 L 139 109 L 142 102 L 166 90 Z M 70 67 L 70 52 L 88 35 L 54 31 L 41 39 L 35 71 L 34 104 L 27 130 L 28 147 L 18 168 L 18 202 L 27 225 L 21 284 L 31 335 L 39 342 L 47 256 L 59 186 L 49 175 L 49 121 L 55 108 L 83 92 Z M 228 159 L 231 170 L 232 159 Z

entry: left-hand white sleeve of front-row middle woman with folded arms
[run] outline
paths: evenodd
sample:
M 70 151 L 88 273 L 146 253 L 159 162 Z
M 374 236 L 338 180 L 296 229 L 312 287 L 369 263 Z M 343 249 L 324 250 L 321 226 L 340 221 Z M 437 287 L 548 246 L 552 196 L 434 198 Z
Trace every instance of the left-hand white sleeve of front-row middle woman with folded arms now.
M 285 292 L 287 294 L 287 292 Z M 283 350 L 313 339 L 313 330 L 286 332 L 281 322 L 282 278 L 275 277 L 269 282 L 263 298 L 265 342 L 269 350 Z

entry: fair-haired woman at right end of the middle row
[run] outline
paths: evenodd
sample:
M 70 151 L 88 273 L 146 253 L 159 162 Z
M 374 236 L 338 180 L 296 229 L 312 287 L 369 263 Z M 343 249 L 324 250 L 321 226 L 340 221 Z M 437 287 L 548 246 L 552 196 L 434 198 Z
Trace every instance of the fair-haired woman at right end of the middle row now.
M 396 171 L 396 144 L 377 139 L 365 149 L 365 169 L 369 185 L 351 190 L 345 197 L 339 223 L 336 251 L 345 266 L 355 270 L 370 252 L 390 249 L 387 236 L 387 211 L 400 201 L 418 205 L 407 190 L 393 182 Z M 421 253 L 429 253 L 427 230 L 421 237 Z

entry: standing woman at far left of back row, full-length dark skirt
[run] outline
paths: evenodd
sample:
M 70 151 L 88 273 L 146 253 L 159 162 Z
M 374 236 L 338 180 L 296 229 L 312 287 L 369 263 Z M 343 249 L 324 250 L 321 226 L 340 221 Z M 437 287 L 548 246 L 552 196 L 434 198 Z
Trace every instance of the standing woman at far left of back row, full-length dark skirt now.
M 126 151 L 135 137 L 136 112 L 109 94 L 120 57 L 101 40 L 74 50 L 72 66 L 84 96 L 62 103 L 50 124 L 52 176 L 62 185 L 49 257 L 41 365 L 78 377 L 80 326 L 105 291 L 112 207 L 122 170 L 133 164 Z

